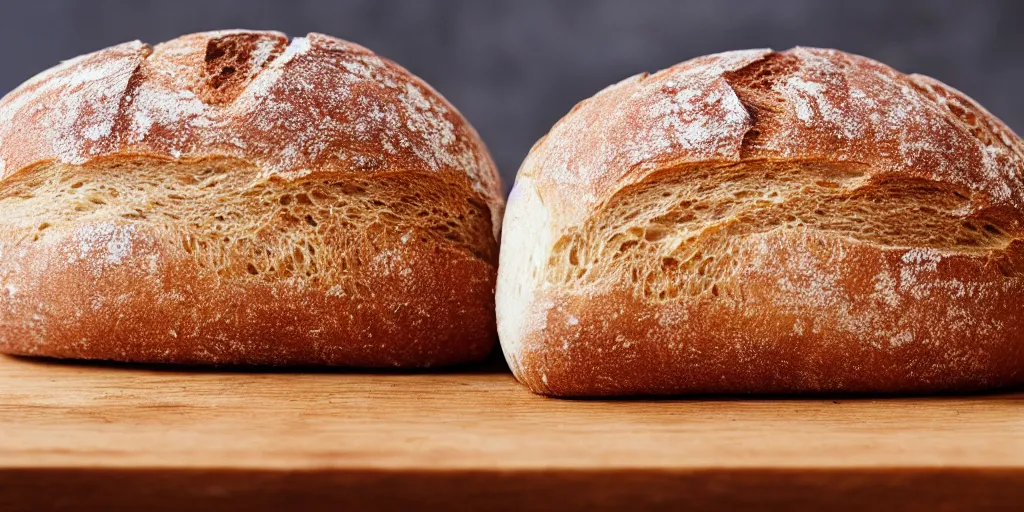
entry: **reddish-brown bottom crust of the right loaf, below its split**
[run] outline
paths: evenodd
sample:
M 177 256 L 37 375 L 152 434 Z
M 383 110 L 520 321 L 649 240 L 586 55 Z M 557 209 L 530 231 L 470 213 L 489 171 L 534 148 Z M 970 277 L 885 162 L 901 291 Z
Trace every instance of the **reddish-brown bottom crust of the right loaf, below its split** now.
M 717 295 L 655 302 L 629 283 L 539 292 L 522 343 L 507 354 L 513 372 L 555 396 L 925 393 L 1024 382 L 1024 283 L 1006 274 L 1022 267 L 1024 244 L 956 254 L 773 231 L 744 241 L 736 260 Z

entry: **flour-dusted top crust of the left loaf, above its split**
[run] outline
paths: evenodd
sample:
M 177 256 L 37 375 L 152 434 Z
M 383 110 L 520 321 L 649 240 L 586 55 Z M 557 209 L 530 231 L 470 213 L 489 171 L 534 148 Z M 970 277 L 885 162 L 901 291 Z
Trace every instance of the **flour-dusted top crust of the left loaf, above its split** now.
M 503 190 L 479 136 L 400 66 L 322 34 L 193 34 L 82 55 L 0 100 L 0 178 L 44 161 L 230 157 L 285 179 L 413 171 L 469 178 L 496 234 Z

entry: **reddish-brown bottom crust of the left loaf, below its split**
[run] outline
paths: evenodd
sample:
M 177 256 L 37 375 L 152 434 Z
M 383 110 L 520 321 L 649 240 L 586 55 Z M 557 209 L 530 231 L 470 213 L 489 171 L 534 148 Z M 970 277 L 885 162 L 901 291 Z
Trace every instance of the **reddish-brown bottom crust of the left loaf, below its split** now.
M 79 224 L 48 240 L 0 254 L 2 352 L 421 368 L 479 360 L 496 341 L 494 266 L 419 239 L 385 242 L 345 289 L 218 275 L 131 223 Z

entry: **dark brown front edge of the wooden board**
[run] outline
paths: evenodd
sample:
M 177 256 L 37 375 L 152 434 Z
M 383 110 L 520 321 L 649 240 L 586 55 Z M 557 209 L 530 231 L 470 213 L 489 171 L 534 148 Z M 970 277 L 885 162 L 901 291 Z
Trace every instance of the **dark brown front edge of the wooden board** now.
M 0 469 L 0 510 L 1005 510 L 1020 468 Z

